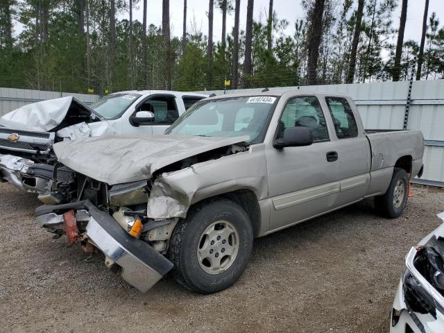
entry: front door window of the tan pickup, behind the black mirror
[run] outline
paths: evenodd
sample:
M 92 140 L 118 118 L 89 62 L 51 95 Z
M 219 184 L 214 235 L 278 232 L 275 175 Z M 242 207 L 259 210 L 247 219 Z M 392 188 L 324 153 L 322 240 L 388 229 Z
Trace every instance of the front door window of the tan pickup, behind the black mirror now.
M 309 128 L 313 142 L 329 140 L 325 117 L 315 96 L 298 96 L 289 99 L 278 123 L 277 139 L 284 135 L 285 128 L 296 126 Z

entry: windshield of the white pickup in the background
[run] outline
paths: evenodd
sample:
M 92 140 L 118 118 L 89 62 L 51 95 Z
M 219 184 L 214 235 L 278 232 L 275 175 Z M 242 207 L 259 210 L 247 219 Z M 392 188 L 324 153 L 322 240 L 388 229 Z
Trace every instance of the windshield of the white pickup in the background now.
M 133 104 L 140 94 L 112 94 L 89 105 L 103 119 L 119 118 Z

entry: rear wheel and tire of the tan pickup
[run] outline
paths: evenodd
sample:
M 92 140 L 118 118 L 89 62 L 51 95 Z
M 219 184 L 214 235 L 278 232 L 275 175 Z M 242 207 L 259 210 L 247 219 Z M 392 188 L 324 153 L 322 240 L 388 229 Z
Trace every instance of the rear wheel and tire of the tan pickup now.
M 388 219 L 395 219 L 407 205 L 409 177 L 404 169 L 395 168 L 386 193 L 375 197 L 375 208 Z

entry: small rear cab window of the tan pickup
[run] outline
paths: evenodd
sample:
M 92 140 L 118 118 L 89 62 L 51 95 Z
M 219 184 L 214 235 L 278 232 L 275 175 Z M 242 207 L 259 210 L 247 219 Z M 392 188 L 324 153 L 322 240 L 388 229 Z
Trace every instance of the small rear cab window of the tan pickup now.
M 358 126 L 352 107 L 343 97 L 325 97 L 328 110 L 332 115 L 334 130 L 338 139 L 358 136 Z

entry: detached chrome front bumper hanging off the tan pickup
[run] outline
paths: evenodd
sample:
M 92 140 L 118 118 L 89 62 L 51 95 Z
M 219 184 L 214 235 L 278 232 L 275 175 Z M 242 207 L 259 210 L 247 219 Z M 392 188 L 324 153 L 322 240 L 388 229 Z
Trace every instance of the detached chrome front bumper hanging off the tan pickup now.
M 35 210 L 35 215 L 42 228 L 54 232 L 66 228 L 67 221 L 63 214 L 70 210 L 76 212 L 78 223 L 87 223 L 85 232 L 81 234 L 83 241 L 87 240 L 120 266 L 123 280 L 142 293 L 173 268 L 167 258 L 146 242 L 125 232 L 112 216 L 99 210 L 89 200 L 66 205 L 44 205 Z

